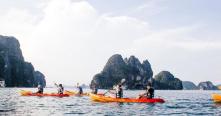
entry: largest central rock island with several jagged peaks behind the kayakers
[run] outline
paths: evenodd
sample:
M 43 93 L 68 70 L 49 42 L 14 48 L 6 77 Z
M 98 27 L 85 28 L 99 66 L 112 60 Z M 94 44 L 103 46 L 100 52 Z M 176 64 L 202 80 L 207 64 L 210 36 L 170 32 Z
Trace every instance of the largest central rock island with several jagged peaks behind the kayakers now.
M 143 89 L 152 76 L 151 65 L 147 60 L 140 63 L 135 56 L 123 59 L 121 55 L 116 54 L 108 60 L 103 71 L 93 77 L 91 85 L 108 89 L 126 79 L 124 85 L 128 89 Z

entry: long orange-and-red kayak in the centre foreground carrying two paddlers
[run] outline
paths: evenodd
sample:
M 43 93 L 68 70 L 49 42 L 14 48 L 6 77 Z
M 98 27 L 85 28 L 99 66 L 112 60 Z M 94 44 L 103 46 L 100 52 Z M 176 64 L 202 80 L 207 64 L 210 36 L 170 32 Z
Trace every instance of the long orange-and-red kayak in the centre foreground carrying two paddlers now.
M 90 98 L 93 101 L 98 102 L 127 102 L 127 103 L 164 103 L 165 101 L 161 98 L 113 98 L 104 95 L 96 95 L 90 93 Z

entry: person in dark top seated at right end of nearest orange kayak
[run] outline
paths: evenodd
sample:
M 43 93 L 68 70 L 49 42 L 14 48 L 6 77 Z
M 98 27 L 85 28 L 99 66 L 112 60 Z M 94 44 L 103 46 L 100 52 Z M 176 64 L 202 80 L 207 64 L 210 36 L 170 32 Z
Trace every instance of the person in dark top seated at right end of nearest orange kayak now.
M 151 83 L 149 83 L 147 85 L 146 92 L 141 94 L 141 95 L 139 95 L 139 98 L 142 98 L 142 97 L 146 97 L 146 98 L 149 98 L 149 99 L 154 98 L 154 88 L 152 87 Z

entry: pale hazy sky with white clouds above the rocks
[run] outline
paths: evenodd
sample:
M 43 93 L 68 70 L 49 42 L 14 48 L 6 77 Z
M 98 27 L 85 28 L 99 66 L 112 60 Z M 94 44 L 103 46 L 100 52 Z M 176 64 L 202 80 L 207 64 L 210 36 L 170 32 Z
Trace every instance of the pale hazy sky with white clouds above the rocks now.
M 89 83 L 113 54 L 221 83 L 220 0 L 0 0 L 0 34 L 52 82 Z

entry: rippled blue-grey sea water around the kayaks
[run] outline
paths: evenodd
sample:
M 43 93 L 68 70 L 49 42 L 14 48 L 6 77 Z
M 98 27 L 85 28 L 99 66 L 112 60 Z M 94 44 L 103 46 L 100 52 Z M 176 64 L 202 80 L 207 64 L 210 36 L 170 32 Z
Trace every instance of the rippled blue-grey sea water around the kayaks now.
M 221 115 L 221 104 L 211 100 L 211 93 L 221 91 L 156 91 L 166 103 L 99 103 L 89 97 L 22 97 L 19 90 L 30 88 L 0 88 L 0 115 Z M 68 89 L 71 90 L 71 89 Z M 45 91 L 55 92 L 55 88 Z M 87 90 L 89 91 L 89 90 Z M 141 91 L 124 91 L 135 97 Z

